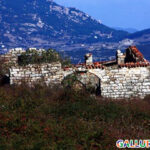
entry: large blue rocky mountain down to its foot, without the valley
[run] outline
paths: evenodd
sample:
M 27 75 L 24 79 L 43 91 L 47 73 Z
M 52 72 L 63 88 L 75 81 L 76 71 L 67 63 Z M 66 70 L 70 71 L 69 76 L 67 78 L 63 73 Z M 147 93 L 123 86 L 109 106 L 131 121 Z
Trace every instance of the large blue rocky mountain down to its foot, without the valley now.
M 1 1 L 0 14 L 1 43 L 6 47 L 118 41 L 127 35 L 48 0 Z

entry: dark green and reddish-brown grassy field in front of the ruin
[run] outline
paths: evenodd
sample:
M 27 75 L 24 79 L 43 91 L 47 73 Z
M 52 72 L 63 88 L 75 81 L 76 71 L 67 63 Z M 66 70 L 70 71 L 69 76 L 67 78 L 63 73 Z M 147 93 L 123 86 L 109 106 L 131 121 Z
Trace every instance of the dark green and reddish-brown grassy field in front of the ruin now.
M 112 101 L 59 87 L 0 87 L 0 150 L 116 150 L 150 138 L 150 97 Z

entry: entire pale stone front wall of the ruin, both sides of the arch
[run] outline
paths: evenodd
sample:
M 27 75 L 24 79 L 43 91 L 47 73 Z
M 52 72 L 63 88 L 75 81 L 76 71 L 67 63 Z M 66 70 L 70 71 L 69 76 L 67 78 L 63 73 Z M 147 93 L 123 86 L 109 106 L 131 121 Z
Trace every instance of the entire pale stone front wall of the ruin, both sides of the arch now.
M 76 70 L 61 68 L 60 63 L 28 65 L 10 69 L 10 84 L 29 85 L 45 83 L 46 85 L 61 84 L 64 78 Z M 77 71 L 78 80 L 83 84 L 91 84 L 99 89 L 103 97 L 110 98 L 144 98 L 150 94 L 150 68 L 116 68 L 116 69 L 86 69 Z M 99 79 L 99 80 L 98 80 Z M 100 82 L 100 85 L 99 85 Z M 94 86 L 95 84 L 95 86 Z M 96 86 L 100 86 L 99 88 Z

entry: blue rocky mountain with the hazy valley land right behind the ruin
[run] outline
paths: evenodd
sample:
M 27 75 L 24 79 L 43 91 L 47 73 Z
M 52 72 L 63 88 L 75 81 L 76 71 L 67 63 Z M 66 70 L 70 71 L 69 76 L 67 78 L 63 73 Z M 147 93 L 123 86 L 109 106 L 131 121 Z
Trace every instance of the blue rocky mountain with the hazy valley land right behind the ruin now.
M 55 48 L 79 62 L 86 52 L 108 59 L 117 48 L 136 43 L 128 32 L 103 25 L 75 8 L 52 0 L 0 1 L 0 50 Z

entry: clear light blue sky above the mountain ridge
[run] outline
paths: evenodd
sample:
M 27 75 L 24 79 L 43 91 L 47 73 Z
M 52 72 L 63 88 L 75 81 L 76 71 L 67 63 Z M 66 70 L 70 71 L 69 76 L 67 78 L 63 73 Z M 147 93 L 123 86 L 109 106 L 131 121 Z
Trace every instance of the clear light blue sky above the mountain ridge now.
M 54 0 L 76 7 L 110 27 L 150 28 L 150 0 Z

